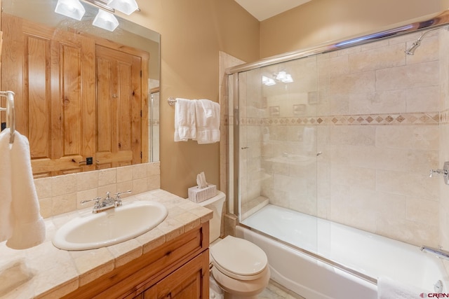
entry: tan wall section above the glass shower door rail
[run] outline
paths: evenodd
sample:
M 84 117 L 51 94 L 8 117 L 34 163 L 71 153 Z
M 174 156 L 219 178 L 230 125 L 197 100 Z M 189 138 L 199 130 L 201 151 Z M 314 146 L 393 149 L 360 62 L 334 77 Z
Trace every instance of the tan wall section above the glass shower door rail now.
M 447 0 L 314 0 L 260 23 L 260 57 L 377 31 L 449 7 Z

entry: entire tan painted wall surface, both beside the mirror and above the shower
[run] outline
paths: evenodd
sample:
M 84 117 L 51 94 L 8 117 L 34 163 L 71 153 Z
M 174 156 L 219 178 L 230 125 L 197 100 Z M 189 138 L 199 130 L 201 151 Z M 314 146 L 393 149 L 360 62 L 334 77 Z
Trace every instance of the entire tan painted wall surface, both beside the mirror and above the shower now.
M 141 0 L 139 5 L 141 13 L 123 17 L 161 33 L 161 188 L 187 197 L 201 171 L 218 185 L 219 146 L 174 142 L 174 107 L 166 99 L 217 102 L 218 51 L 252 62 L 441 11 L 449 0 L 314 0 L 264 22 L 234 0 Z

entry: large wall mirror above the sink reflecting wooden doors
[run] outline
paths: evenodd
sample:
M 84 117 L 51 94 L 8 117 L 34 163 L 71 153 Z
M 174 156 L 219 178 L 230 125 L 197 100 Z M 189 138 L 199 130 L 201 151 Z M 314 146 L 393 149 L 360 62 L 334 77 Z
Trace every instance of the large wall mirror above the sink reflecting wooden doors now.
M 56 4 L 2 0 L 1 88 L 19 90 L 16 127 L 29 138 L 35 178 L 158 161 L 159 33 L 119 16 L 109 32 L 92 25 L 95 6 L 81 1 L 78 21 Z

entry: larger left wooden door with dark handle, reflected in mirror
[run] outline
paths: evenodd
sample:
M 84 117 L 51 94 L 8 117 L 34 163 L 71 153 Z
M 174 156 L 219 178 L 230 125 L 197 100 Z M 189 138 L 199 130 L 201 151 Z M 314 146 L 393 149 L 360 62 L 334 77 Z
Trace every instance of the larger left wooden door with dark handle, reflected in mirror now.
M 3 15 L 1 86 L 15 92 L 16 128 L 35 177 L 93 170 L 95 41 Z

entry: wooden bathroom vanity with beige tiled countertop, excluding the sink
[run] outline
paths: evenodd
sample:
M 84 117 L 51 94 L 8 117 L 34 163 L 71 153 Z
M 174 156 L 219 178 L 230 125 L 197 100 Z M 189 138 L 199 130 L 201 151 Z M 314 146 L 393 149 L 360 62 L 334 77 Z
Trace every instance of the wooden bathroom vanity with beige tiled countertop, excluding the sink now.
M 98 249 L 53 246 L 55 231 L 91 208 L 46 218 L 47 239 L 17 251 L 0 243 L 0 297 L 208 298 L 212 211 L 164 190 L 127 197 L 160 202 L 168 215 L 156 228 Z

